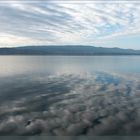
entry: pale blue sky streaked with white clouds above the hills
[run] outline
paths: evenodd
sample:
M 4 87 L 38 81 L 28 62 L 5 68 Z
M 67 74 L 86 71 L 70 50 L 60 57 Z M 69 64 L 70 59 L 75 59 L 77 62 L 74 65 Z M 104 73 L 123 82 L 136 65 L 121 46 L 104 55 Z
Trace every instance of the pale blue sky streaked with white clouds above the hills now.
M 93 45 L 140 49 L 140 2 L 0 2 L 0 47 Z

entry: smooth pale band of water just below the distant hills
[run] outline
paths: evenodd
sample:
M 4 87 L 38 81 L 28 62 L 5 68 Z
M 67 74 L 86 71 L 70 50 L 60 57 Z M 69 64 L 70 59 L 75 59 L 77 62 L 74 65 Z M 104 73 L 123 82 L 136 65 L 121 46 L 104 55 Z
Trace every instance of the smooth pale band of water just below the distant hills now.
M 139 62 L 139 56 L 0 56 L 0 76 L 95 71 L 140 73 Z

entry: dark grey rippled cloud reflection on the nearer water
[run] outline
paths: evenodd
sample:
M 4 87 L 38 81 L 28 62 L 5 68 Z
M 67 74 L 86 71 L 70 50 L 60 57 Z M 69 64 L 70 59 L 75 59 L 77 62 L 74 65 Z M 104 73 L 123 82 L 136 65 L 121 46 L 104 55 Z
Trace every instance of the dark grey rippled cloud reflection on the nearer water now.
M 140 135 L 139 76 L 127 77 L 96 73 L 7 80 L 0 135 Z M 21 79 L 22 87 L 15 86 Z

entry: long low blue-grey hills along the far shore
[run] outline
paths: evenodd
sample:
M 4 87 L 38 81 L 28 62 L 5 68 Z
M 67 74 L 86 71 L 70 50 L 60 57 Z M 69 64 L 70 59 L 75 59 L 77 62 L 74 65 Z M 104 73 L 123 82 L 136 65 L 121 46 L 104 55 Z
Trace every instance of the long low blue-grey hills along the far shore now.
M 42 55 L 42 56 L 122 56 L 140 55 L 140 50 L 103 48 L 94 46 L 24 46 L 0 48 L 0 55 Z

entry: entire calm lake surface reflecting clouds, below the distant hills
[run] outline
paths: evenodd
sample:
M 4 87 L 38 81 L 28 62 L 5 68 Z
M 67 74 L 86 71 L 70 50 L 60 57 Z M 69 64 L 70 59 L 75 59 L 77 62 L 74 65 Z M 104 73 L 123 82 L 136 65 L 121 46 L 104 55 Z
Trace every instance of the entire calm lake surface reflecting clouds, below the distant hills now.
M 140 135 L 140 56 L 0 56 L 0 135 Z

